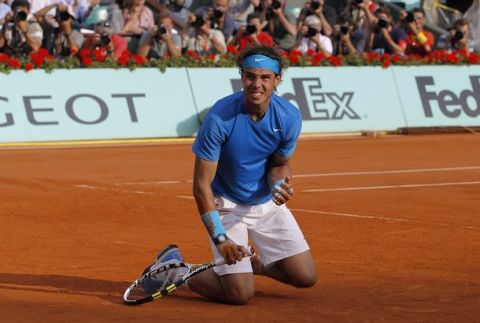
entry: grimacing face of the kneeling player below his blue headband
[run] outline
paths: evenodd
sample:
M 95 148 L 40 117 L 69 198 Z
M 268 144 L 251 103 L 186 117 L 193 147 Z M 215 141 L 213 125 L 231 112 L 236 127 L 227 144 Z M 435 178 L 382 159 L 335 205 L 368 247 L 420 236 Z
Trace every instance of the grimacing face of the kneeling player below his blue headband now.
M 243 71 L 243 90 L 247 107 L 255 110 L 266 109 L 275 88 L 280 84 L 280 76 L 269 69 L 249 68 Z

